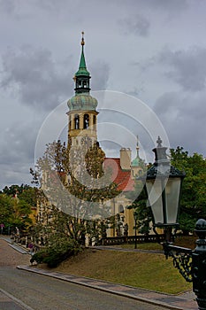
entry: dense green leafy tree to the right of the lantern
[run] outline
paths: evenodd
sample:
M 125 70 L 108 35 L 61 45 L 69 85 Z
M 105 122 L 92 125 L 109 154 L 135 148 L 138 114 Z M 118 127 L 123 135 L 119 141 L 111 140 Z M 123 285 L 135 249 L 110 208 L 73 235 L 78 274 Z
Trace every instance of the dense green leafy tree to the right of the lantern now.
M 185 234 L 194 231 L 195 221 L 206 217 L 206 160 L 201 154 L 189 156 L 182 147 L 171 150 L 172 165 L 184 170 L 179 224 Z

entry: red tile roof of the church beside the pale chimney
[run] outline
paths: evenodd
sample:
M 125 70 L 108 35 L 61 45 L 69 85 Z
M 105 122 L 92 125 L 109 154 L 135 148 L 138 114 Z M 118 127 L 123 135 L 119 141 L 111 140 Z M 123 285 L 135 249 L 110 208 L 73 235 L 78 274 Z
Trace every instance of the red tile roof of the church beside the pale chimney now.
M 134 190 L 134 180 L 131 178 L 131 170 L 122 170 L 120 159 L 105 158 L 103 169 L 110 175 L 111 182 L 118 184 L 118 190 Z

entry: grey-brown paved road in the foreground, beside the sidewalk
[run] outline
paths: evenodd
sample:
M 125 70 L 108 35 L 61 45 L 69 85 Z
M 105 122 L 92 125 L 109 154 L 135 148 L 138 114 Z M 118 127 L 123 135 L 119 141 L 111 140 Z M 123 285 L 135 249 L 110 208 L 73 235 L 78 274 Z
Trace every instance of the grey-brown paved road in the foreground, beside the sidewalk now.
M 17 300 L 21 301 L 21 306 L 12 306 L 12 310 L 164 310 L 161 306 L 19 270 L 15 266 L 24 264 L 28 255 L 16 252 L 4 240 L 0 240 L 0 249 L 0 287 L 17 298 L 16 305 Z M 8 310 L 8 305 L 5 307 L 0 301 L 1 310 Z

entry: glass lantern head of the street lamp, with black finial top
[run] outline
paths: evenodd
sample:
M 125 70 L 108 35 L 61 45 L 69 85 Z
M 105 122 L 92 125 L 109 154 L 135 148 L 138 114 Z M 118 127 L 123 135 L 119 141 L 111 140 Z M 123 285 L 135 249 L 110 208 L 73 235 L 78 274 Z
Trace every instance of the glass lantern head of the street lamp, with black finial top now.
M 164 228 L 165 238 L 171 241 L 171 229 L 177 227 L 181 183 L 185 174 L 172 167 L 167 157 L 167 148 L 158 136 L 155 163 L 149 168 L 146 178 L 148 204 L 153 213 L 154 227 Z

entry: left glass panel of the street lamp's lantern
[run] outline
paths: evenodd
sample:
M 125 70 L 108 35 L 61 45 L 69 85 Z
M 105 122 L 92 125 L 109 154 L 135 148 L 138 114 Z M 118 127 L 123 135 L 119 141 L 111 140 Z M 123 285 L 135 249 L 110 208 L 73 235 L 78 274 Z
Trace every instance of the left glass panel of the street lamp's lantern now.
M 164 223 L 161 180 L 147 180 L 146 188 L 155 224 Z

